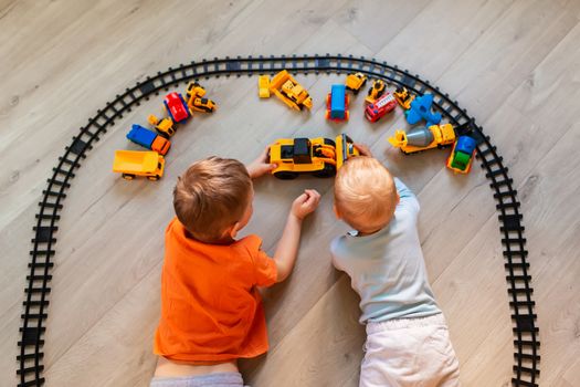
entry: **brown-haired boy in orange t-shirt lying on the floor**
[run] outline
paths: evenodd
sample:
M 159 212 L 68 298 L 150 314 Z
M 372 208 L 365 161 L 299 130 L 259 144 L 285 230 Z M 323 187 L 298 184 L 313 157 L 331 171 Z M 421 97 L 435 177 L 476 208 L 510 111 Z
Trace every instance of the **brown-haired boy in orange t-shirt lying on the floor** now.
M 236 239 L 252 217 L 252 179 L 275 168 L 266 155 L 267 149 L 247 167 L 209 157 L 178 179 L 176 218 L 166 230 L 151 387 L 243 386 L 236 359 L 267 351 L 257 286 L 289 275 L 303 219 L 320 195 L 307 189 L 294 200 L 274 258 L 262 251 L 257 236 Z

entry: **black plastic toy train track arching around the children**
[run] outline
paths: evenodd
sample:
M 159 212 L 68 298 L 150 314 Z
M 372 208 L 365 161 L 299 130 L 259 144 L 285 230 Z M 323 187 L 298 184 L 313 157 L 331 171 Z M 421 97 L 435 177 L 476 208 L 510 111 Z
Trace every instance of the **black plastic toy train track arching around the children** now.
M 71 187 L 71 179 L 81 166 L 93 144 L 114 125 L 115 119 L 124 113 L 139 106 L 145 98 L 161 91 L 168 91 L 180 83 L 192 80 L 209 79 L 212 76 L 241 76 L 252 74 L 273 74 L 281 70 L 291 73 L 349 73 L 361 72 L 372 79 L 380 79 L 396 86 L 405 86 L 415 94 L 432 93 L 434 107 L 441 112 L 452 124 L 471 132 L 477 139 L 477 158 L 486 177 L 491 180 L 494 198 L 497 200 L 502 243 L 504 245 L 506 281 L 508 285 L 509 306 L 514 323 L 514 386 L 538 386 L 539 377 L 539 346 L 538 327 L 536 326 L 535 303 L 531 300 L 534 290 L 530 285 L 529 263 L 526 258 L 523 216 L 519 212 L 517 191 L 513 188 L 513 180 L 508 176 L 508 168 L 504 167 L 503 158 L 491 143 L 491 138 L 482 132 L 475 119 L 457 105 L 456 101 L 442 93 L 439 87 L 423 81 L 419 75 L 413 75 L 407 70 L 396 65 L 365 57 L 341 55 L 304 55 L 304 56 L 247 56 L 203 60 L 181 64 L 176 69 L 169 67 L 155 76 L 138 82 L 134 87 L 117 95 L 114 101 L 97 111 L 97 114 L 81 127 L 72 143 L 65 147 L 64 154 L 59 157 L 52 177 L 48 179 L 43 190 L 40 210 L 33 227 L 33 248 L 30 252 L 30 272 L 27 275 L 28 286 L 24 289 L 25 301 L 20 327 L 21 339 L 18 342 L 19 369 L 17 374 L 19 387 L 42 386 L 43 377 L 43 346 L 45 334 L 45 320 L 48 316 L 50 281 L 55 254 L 57 222 L 62 201 L 66 198 L 66 190 Z

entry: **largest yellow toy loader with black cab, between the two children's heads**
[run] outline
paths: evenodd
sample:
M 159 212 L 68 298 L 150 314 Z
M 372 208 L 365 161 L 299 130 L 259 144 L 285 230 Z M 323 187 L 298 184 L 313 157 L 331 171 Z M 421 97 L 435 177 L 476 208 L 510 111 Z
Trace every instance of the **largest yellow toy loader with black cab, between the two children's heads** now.
M 329 138 L 281 138 L 270 146 L 270 163 L 278 165 L 272 175 L 278 179 L 295 179 L 300 174 L 333 177 L 344 161 L 358 156 L 352 140 L 340 135 L 337 143 Z

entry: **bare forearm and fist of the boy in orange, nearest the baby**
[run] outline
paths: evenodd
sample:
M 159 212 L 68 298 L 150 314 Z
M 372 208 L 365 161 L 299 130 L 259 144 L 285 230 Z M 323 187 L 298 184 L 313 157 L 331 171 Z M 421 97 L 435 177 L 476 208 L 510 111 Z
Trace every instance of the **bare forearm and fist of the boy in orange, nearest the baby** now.
M 300 242 L 302 221 L 306 216 L 316 210 L 319 201 L 320 194 L 314 189 L 307 189 L 292 203 L 284 232 L 282 233 L 276 253 L 274 254 L 274 261 L 276 262 L 278 272 L 276 282 L 284 281 L 292 272 Z

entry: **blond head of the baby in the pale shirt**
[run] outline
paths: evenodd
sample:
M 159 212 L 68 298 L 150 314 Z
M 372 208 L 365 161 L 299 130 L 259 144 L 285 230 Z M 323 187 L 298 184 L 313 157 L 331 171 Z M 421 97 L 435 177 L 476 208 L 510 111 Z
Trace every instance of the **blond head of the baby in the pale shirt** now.
M 369 233 L 391 220 L 399 195 L 389 170 L 372 157 L 355 157 L 338 170 L 335 212 L 354 229 Z

